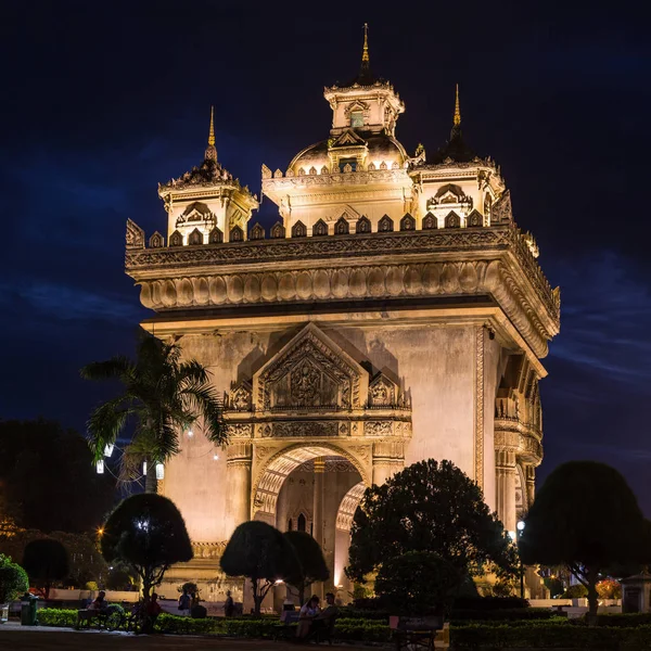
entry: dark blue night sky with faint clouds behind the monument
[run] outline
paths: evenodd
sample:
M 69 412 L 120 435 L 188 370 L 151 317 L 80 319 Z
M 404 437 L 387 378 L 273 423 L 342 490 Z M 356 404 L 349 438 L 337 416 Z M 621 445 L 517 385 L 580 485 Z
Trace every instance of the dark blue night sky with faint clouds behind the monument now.
M 165 230 L 156 184 L 201 163 L 210 104 L 219 161 L 259 194 L 263 163 L 285 169 L 328 137 L 322 88 L 356 74 L 368 22 L 371 67 L 406 103 L 398 139 L 443 144 L 459 82 L 467 141 L 501 165 L 561 285 L 538 476 L 612 463 L 651 515 L 651 41 L 626 2 L 8 4 L 0 417 L 84 430 L 112 390 L 78 369 L 130 354 L 148 316 L 124 275 L 126 219 Z

